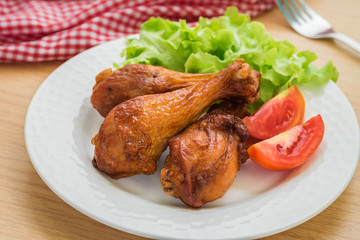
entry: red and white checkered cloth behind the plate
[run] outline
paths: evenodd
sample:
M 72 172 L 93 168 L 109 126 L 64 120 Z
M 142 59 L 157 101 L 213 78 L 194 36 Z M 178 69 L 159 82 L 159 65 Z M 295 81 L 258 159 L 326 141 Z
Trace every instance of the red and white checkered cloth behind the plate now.
M 67 59 L 137 33 L 151 16 L 196 22 L 228 6 L 255 17 L 274 0 L 0 0 L 0 62 Z

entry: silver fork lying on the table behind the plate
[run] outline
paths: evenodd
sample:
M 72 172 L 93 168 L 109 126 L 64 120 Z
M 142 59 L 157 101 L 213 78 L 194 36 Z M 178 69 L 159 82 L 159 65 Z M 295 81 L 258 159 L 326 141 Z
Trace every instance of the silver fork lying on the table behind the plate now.
M 290 26 L 308 38 L 333 38 L 360 54 L 360 43 L 345 34 L 335 32 L 331 24 L 304 0 L 275 0 Z

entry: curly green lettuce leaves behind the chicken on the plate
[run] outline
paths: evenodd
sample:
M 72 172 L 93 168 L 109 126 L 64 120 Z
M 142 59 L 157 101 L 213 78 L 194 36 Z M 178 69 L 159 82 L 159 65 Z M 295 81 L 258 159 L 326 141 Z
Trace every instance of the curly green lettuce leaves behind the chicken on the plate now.
M 142 24 L 139 39 L 127 39 L 122 56 L 124 63 L 115 67 L 143 63 L 189 73 L 217 72 L 243 58 L 261 73 L 261 96 L 253 110 L 284 88 L 301 83 L 317 87 L 336 82 L 339 75 L 331 61 L 317 68 L 315 53 L 275 41 L 262 23 L 235 7 L 218 18 L 200 17 L 195 27 L 185 20 L 152 17 Z

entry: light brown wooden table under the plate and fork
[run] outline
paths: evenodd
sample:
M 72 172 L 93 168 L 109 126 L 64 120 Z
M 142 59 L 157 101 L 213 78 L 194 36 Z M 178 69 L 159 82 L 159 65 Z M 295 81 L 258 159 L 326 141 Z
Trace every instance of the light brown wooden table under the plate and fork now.
M 336 30 L 360 41 L 360 1 L 309 0 Z M 316 65 L 332 59 L 338 86 L 360 119 L 360 56 L 331 40 L 296 34 L 277 9 L 258 17 L 275 39 L 289 39 L 300 50 L 315 51 Z M 62 61 L 0 64 L 0 239 L 144 239 L 115 230 L 70 207 L 40 179 L 24 142 L 24 121 L 31 98 Z M 360 238 L 360 169 L 344 193 L 311 220 L 265 239 Z

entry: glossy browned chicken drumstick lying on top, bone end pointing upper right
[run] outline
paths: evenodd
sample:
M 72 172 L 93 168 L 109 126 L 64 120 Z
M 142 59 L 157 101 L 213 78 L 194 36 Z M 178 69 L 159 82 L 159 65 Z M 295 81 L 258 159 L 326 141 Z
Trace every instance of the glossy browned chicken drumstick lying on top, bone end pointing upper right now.
M 127 100 L 106 116 L 95 145 L 93 164 L 113 178 L 153 174 L 168 140 L 195 122 L 215 100 L 253 96 L 248 65 L 236 60 L 226 69 L 189 87 Z

